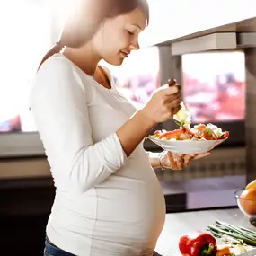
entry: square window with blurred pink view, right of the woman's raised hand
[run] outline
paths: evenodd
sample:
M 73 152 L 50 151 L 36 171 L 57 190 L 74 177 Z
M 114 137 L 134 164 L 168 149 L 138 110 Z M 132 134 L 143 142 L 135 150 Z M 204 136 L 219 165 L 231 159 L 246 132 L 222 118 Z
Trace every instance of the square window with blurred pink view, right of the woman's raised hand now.
M 184 102 L 194 123 L 244 119 L 244 61 L 243 51 L 182 56 Z

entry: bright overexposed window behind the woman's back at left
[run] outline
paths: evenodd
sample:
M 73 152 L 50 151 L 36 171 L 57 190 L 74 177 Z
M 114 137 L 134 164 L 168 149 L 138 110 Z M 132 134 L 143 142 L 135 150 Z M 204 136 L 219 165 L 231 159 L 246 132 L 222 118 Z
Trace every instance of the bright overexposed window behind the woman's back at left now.
M 5 1 L 1 7 L 0 132 L 35 130 L 29 111 L 31 78 L 51 45 L 49 8 L 44 3 Z

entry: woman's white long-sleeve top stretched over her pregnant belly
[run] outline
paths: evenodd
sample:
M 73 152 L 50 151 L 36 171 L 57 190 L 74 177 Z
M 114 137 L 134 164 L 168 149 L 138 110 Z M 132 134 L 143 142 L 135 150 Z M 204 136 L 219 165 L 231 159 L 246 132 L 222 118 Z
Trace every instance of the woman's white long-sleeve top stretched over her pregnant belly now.
M 31 110 L 56 186 L 49 240 L 78 256 L 152 256 L 163 191 L 143 144 L 127 157 L 116 134 L 134 106 L 56 54 L 35 77 Z

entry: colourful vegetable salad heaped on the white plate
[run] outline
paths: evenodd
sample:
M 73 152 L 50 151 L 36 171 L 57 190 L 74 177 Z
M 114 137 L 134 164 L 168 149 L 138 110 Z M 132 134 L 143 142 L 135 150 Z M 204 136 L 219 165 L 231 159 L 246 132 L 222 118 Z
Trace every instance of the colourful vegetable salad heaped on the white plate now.
M 173 119 L 180 128 L 172 131 L 156 130 L 154 138 L 161 140 L 217 140 L 229 136 L 228 131 L 222 131 L 221 128 L 211 123 L 190 127 L 190 111 L 186 109 L 183 102 L 181 102 L 181 110 L 173 116 Z

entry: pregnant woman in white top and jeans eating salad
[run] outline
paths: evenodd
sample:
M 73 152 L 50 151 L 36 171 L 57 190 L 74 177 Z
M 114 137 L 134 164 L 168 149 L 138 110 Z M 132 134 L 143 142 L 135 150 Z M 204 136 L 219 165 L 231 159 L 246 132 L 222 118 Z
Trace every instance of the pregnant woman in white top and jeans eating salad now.
M 162 86 L 136 110 L 99 65 L 139 49 L 146 0 L 84 0 L 73 11 L 31 90 L 56 187 L 44 255 L 157 255 L 165 203 L 153 168 L 184 165 L 146 153 L 143 140 L 180 110 L 180 88 Z

